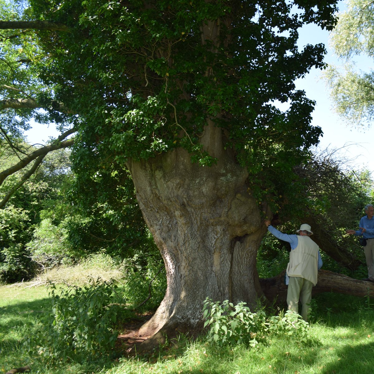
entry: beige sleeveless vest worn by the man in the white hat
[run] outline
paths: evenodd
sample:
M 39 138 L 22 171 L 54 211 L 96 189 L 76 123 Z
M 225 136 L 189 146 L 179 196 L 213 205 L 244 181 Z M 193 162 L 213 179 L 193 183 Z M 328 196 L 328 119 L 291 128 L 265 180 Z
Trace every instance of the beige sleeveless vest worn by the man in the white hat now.
M 298 237 L 297 247 L 291 249 L 287 275 L 289 277 L 301 277 L 317 284 L 318 273 L 318 245 L 309 236 Z

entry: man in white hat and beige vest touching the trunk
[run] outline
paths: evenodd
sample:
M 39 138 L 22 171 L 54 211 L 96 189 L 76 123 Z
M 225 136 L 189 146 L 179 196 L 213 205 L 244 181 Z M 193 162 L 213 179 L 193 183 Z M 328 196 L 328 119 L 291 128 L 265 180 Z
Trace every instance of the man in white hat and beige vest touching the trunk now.
M 304 223 L 296 230 L 298 235 L 283 234 L 266 220 L 267 229 L 275 237 L 291 245 L 289 263 L 286 275 L 289 277 L 287 290 L 288 309 L 298 313 L 299 299 L 301 301 L 301 317 L 308 321 L 308 310 L 312 299 L 312 287 L 317 284 L 317 273 L 322 267 L 322 259 L 318 245 L 310 239 L 313 235 L 311 227 Z

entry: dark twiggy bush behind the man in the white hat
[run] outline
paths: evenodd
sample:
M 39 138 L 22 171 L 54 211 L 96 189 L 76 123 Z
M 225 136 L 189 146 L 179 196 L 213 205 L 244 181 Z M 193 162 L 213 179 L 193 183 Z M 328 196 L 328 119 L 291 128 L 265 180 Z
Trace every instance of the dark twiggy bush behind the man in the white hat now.
M 311 154 L 310 160 L 295 167 L 305 180 L 305 204 L 300 217 L 278 222 L 282 232 L 295 233 L 300 222 L 309 223 L 313 240 L 319 245 L 324 269 L 365 278 L 364 251 L 358 241 L 348 238 L 348 227 L 357 227 L 364 206 L 373 201 L 373 181 L 368 171 L 356 172 L 347 166 L 337 150 Z M 290 247 L 267 235 L 258 253 L 258 268 L 263 278 L 278 275 L 288 263 Z M 362 276 L 361 276 L 362 274 Z

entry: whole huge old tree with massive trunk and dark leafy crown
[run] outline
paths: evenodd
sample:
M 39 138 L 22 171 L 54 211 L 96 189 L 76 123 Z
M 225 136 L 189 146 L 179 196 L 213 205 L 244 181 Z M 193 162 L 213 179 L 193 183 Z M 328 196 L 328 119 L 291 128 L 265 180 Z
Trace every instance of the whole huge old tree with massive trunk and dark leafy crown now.
M 300 50 L 298 29 L 331 30 L 335 11 L 332 0 L 33 0 L 0 23 L 36 30 L 48 89 L 33 98 L 73 124 L 77 186 L 131 176 L 168 282 L 142 335 L 199 330 L 206 297 L 254 307 L 263 295 L 262 222 L 303 205 L 293 167 L 322 133 L 294 80 L 324 67 L 325 48 Z

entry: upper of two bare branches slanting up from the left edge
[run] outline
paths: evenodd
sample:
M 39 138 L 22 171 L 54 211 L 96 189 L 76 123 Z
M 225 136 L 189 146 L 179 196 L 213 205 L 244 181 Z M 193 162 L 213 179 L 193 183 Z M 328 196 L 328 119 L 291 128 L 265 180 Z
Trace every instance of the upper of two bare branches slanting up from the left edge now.
M 54 151 L 56 149 L 61 149 L 61 148 L 67 148 L 73 145 L 74 143 L 74 138 L 68 139 L 65 141 L 62 141 L 65 139 L 68 135 L 73 134 L 76 131 L 76 129 L 70 129 L 64 134 L 61 134 L 58 137 L 58 142 L 55 142 L 53 144 L 46 145 L 45 147 L 38 148 L 36 151 L 30 153 L 28 156 L 24 157 L 21 159 L 18 163 L 15 165 L 11 166 L 10 168 L 7 168 L 6 170 L 2 171 L 0 173 L 0 186 L 3 184 L 4 180 L 9 177 L 9 175 L 14 174 L 15 172 L 25 168 L 29 163 L 31 163 L 33 160 L 37 159 L 40 156 L 45 156 L 47 153 Z M 30 174 L 31 175 L 31 174 Z

